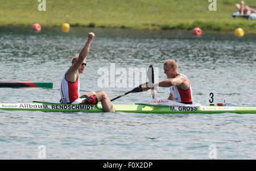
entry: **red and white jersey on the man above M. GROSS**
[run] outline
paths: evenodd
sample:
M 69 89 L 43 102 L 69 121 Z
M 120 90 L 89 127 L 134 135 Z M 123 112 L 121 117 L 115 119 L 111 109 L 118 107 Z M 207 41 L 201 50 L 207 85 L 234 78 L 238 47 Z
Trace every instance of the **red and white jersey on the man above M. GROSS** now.
M 179 74 L 182 77 L 186 77 L 184 74 Z M 188 77 L 186 77 L 188 79 Z M 192 102 L 192 88 L 189 81 L 189 88 L 187 90 L 182 90 L 180 87 L 171 86 L 170 91 L 171 94 L 174 96 L 174 101 L 176 102 Z

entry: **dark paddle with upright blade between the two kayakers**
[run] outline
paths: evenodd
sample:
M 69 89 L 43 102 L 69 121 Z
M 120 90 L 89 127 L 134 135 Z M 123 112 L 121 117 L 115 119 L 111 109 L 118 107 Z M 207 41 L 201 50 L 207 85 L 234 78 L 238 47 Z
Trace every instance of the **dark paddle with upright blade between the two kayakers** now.
M 142 92 L 142 91 L 147 91 L 147 90 L 151 89 L 152 87 L 154 87 L 154 82 L 152 82 L 152 81 L 154 81 L 154 72 L 152 72 L 152 70 L 153 70 L 153 66 L 150 65 L 147 70 L 147 77 L 149 80 L 148 82 L 141 84 L 141 85 L 135 87 L 133 90 L 128 91 L 125 94 L 119 95 L 118 97 L 115 97 L 115 98 L 111 99 L 110 101 L 114 101 L 114 100 L 121 98 L 124 95 L 127 95 L 129 93 L 138 93 L 138 92 Z

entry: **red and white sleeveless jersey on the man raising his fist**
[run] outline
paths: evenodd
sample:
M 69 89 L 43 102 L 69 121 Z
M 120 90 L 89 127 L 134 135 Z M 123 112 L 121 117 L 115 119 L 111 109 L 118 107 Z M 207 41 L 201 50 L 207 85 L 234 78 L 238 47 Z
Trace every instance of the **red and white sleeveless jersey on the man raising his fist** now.
M 61 80 L 60 86 L 60 95 L 61 95 L 61 103 L 72 103 L 76 99 L 80 97 L 79 90 L 80 90 L 80 81 L 79 77 L 75 82 L 69 82 L 65 78 L 66 73 L 64 74 Z

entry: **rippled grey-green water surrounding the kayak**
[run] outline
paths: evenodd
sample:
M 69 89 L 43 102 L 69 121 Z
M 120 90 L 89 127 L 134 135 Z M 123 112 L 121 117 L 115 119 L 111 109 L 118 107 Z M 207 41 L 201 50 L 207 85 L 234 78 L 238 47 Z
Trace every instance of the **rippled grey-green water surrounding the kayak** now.
M 187 31 L 106 28 L 68 33 L 43 28 L 34 34 L 31 28 L 0 27 L 0 80 L 53 82 L 53 89 L 1 88 L 0 102 L 59 102 L 61 78 L 90 31 L 96 37 L 81 75 L 81 94 L 104 90 L 114 98 L 133 89 L 110 79 L 108 87 L 100 87 L 99 68 L 113 74 L 118 68 L 153 64 L 161 81 L 166 78 L 163 62 L 175 59 L 179 72 L 191 79 L 194 102 L 204 104 L 207 91 L 214 90 L 218 102 L 256 106 L 256 35 L 208 32 L 193 37 Z M 168 89 L 159 91 L 156 98 L 168 97 Z M 150 98 L 143 92 L 114 103 Z M 253 114 L 0 111 L 0 159 L 39 159 L 39 145 L 46 148 L 46 159 L 256 159 L 255 123 Z

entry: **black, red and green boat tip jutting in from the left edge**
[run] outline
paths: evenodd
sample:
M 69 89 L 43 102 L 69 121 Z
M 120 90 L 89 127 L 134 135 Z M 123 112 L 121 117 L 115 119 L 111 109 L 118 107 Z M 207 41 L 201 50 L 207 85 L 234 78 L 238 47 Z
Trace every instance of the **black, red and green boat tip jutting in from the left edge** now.
M 27 82 L 0 80 L 0 87 L 47 87 L 52 88 L 52 82 Z

